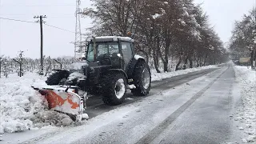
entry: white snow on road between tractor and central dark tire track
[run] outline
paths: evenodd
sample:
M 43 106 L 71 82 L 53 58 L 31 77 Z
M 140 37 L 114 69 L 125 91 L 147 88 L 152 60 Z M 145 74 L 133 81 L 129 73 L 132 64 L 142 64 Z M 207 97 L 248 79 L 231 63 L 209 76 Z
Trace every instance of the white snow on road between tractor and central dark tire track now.
M 183 84 L 175 89 L 156 91 L 150 97 L 110 110 L 91 118 L 76 126 L 62 130 L 50 130 L 51 135 L 35 138 L 26 137 L 19 142 L 24 143 L 135 143 L 143 135 L 149 134 L 154 127 L 159 126 L 179 107 L 202 90 L 216 78 L 217 74 L 210 74 L 190 81 L 190 86 Z M 159 97 L 159 94 L 161 97 Z M 54 132 L 58 131 L 58 132 Z M 75 135 L 70 137 L 70 135 Z M 10 137 L 13 138 L 13 137 Z M 42 138 L 42 139 L 41 139 Z M 8 138 L 6 138 L 8 139 Z M 32 140 L 30 140 L 32 139 Z M 34 140 L 35 139 L 35 140 Z M 17 141 L 17 139 L 15 139 Z M 5 140 L 6 141 L 6 140 Z M 121 142 L 120 142 L 121 141 Z M 15 141 L 13 142 L 15 143 Z

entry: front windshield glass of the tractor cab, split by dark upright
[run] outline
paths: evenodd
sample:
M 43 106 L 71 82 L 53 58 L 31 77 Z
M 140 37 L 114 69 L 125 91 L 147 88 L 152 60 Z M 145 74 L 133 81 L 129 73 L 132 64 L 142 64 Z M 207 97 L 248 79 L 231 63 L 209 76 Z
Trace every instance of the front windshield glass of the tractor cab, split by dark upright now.
M 96 42 L 96 57 L 114 53 L 119 53 L 118 42 Z M 89 62 L 94 61 L 94 43 L 89 44 L 86 58 Z

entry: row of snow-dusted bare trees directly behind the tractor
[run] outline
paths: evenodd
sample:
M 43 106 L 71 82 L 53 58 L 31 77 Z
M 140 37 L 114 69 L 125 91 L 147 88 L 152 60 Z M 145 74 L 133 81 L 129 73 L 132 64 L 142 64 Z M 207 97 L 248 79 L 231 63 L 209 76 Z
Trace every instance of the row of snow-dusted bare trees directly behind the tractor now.
M 205 66 L 222 58 L 222 42 L 193 0 L 92 1 L 94 9 L 83 10 L 85 17 L 94 19 L 89 35 L 127 36 L 132 32 L 136 51 L 145 51 L 157 72 L 159 63 L 164 71 L 170 70 L 171 58 L 178 59 L 176 70 L 186 69 L 188 62 L 192 68 L 193 62 Z

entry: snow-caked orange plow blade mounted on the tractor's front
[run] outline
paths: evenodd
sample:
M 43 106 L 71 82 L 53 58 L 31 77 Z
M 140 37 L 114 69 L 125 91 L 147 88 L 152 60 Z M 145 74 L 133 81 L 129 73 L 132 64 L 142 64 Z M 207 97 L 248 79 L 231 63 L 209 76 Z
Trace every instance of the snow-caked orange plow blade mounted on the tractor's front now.
M 34 87 L 33 87 L 34 88 Z M 60 86 L 49 86 L 46 88 L 34 88 L 46 97 L 48 108 L 63 114 L 67 114 L 74 121 L 82 120 L 83 98 L 74 93 L 74 89 L 66 89 Z

